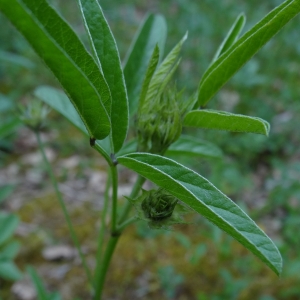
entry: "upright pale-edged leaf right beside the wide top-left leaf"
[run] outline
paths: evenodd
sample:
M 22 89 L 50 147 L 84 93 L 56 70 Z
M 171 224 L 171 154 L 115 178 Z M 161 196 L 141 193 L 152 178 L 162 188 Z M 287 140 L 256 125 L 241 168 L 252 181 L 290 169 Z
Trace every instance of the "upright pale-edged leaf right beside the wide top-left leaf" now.
M 118 152 L 128 129 L 127 91 L 119 51 L 98 1 L 79 0 L 79 6 L 93 51 L 111 92 L 111 133 L 114 152 Z

